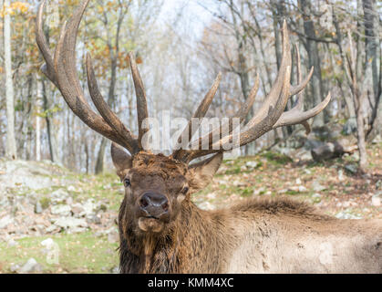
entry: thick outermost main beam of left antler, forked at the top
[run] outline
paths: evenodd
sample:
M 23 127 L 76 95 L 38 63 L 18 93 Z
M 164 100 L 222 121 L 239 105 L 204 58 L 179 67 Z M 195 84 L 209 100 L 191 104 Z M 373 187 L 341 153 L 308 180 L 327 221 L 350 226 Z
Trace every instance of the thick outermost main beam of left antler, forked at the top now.
M 60 90 L 69 108 L 88 127 L 98 131 L 101 135 L 115 141 L 129 151 L 135 151 L 134 144 L 131 139 L 128 139 L 126 133 L 125 136 L 121 135 L 120 131 L 115 129 L 115 125 L 108 124 L 106 120 L 91 110 L 79 85 L 76 73 L 75 47 L 77 29 L 88 2 L 89 0 L 83 1 L 78 6 L 74 16 L 62 26 L 54 57 L 50 53 L 43 33 L 43 12 L 46 0 L 43 0 L 39 5 L 36 17 L 36 42 L 46 60 L 46 65 L 42 67 L 42 71 Z M 89 81 L 91 83 L 94 80 L 90 79 Z

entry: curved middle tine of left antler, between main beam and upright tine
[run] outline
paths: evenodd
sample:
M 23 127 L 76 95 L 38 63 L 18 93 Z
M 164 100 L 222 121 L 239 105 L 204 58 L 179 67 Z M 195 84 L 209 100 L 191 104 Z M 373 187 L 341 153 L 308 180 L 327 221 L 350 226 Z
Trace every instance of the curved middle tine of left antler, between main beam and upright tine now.
M 125 125 L 119 120 L 117 115 L 110 110 L 105 99 L 102 97 L 98 89 L 98 82 L 94 73 L 93 64 L 90 54 L 87 54 L 87 75 L 88 75 L 88 89 L 90 92 L 90 97 L 93 100 L 94 105 L 96 106 L 99 114 L 104 120 L 108 123 L 111 128 L 114 128 L 119 132 L 119 135 L 122 136 L 126 141 L 128 141 L 128 150 L 130 153 L 136 153 L 139 151 L 138 141 L 136 141 L 130 131 L 125 127 Z

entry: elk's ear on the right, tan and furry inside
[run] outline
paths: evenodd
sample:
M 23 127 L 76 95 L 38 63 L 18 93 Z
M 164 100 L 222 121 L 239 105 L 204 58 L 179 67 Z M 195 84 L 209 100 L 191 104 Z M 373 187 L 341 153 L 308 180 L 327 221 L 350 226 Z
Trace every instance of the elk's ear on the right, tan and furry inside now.
M 192 164 L 190 166 L 192 191 L 199 191 L 205 188 L 212 181 L 213 175 L 222 164 L 222 153 L 217 153 L 209 159 Z

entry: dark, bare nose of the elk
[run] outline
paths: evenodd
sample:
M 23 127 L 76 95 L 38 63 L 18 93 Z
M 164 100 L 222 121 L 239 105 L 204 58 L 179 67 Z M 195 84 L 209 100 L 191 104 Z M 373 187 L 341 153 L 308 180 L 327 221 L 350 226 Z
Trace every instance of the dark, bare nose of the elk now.
M 169 211 L 169 200 L 161 193 L 143 193 L 139 200 L 140 209 L 149 216 L 159 218 Z

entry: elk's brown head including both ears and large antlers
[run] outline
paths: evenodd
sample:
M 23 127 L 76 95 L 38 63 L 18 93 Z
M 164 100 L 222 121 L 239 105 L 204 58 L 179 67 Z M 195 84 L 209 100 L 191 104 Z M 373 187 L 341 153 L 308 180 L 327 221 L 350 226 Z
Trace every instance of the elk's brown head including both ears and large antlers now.
M 62 26 L 53 56 L 43 33 L 43 10 L 46 1 L 41 3 L 36 18 L 36 42 L 46 61 L 42 71 L 60 90 L 67 105 L 79 119 L 83 120 L 91 129 L 113 141 L 111 146 L 112 160 L 125 186 L 125 198 L 120 209 L 119 225 L 126 229 L 129 224 L 129 228 L 136 234 L 160 234 L 170 228 L 179 214 L 190 206 L 191 193 L 201 190 L 212 180 L 213 174 L 222 162 L 222 152 L 229 149 L 225 146 L 232 141 L 232 130 L 234 130 L 232 120 L 233 118 L 245 120 L 253 106 L 259 88 L 259 77 L 257 76 L 253 89 L 240 110 L 230 118 L 227 124 L 222 125 L 222 127 L 229 128 L 228 134 L 215 139 L 216 131 L 212 131 L 196 141 L 197 145 L 201 145 L 201 141 L 208 138 L 209 148 L 207 150 L 201 149 L 201 147 L 199 150 L 180 148 L 168 157 L 162 154 L 153 154 L 148 149 L 143 149 L 142 145 L 142 137 L 147 131 L 142 127 L 142 123 L 148 118 L 148 109 L 146 93 L 133 53 L 129 53 L 129 61 L 137 96 L 138 137 L 131 134 L 104 101 L 98 89 L 89 55 L 86 57 L 88 89 L 99 115 L 90 108 L 88 100 L 85 98 L 76 73 L 76 38 L 77 29 L 88 2 L 89 0 L 83 1 L 74 16 Z M 305 129 L 309 131 L 309 124 L 306 120 L 324 110 L 330 101 L 329 94 L 314 109 L 303 110 L 302 91 L 312 77 L 313 68 L 303 80 L 300 56 L 298 47 L 296 47 L 298 84 L 291 86 L 292 61 L 290 50 L 288 31 L 284 22 L 283 58 L 280 70 L 273 88 L 263 101 L 261 109 L 243 126 L 243 130 L 240 132 L 240 146 L 256 140 L 270 130 L 285 125 L 303 124 Z M 201 100 L 201 104 L 192 118 L 201 119 L 205 116 L 219 87 L 220 79 L 221 74 L 215 79 L 212 88 L 204 99 Z M 294 95 L 297 95 L 294 108 L 284 111 L 288 99 Z M 188 138 L 187 144 L 191 143 L 191 138 L 196 130 L 195 127 L 191 127 L 190 120 L 181 134 L 181 137 Z M 181 142 L 181 137 L 179 142 Z M 192 141 L 192 144 L 195 145 L 195 141 Z M 209 155 L 207 159 L 190 164 L 193 160 L 207 155 Z

